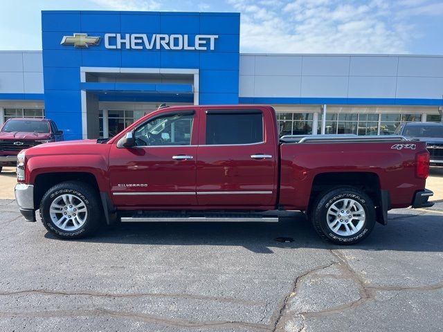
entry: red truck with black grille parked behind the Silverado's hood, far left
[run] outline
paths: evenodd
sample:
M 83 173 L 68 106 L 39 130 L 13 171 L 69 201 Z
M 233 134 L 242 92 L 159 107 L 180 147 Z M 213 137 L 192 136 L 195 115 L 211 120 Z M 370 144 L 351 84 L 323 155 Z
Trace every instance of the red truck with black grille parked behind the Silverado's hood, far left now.
M 13 118 L 0 129 L 0 172 L 3 166 L 15 166 L 22 149 L 63 140 L 55 122 L 40 118 Z

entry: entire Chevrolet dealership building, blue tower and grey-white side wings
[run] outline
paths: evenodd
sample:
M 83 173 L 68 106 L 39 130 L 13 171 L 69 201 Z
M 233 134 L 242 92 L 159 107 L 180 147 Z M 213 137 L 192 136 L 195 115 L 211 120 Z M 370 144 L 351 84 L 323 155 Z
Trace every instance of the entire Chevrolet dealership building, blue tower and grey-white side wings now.
M 163 102 L 270 104 L 282 135 L 441 120 L 443 56 L 239 53 L 240 29 L 238 13 L 44 11 L 42 50 L 0 51 L 0 124 L 107 137 Z

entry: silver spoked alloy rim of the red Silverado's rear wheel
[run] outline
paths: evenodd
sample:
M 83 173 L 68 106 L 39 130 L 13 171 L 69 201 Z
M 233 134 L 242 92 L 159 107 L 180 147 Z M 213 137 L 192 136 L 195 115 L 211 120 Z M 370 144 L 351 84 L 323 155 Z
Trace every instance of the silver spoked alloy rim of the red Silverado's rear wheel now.
M 341 199 L 327 210 L 326 221 L 335 234 L 348 237 L 354 235 L 365 224 L 365 210 L 353 199 Z

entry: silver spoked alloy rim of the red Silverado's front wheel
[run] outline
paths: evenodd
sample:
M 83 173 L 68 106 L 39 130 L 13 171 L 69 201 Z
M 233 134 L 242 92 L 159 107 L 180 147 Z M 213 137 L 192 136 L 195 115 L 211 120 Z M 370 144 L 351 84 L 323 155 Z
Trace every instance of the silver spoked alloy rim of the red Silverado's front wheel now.
M 53 223 L 61 230 L 78 230 L 88 217 L 86 204 L 79 196 L 63 194 L 54 199 L 49 208 Z

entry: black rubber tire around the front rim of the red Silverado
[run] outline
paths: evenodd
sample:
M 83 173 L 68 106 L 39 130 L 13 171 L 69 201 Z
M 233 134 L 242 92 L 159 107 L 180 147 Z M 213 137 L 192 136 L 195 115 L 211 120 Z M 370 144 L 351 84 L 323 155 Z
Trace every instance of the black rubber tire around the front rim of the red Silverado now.
M 73 195 L 76 197 L 76 202 L 83 201 L 84 205 L 86 205 L 87 213 L 83 214 L 84 223 L 75 230 L 64 230 L 57 226 L 55 221 L 51 219 L 49 211 L 51 204 L 54 201 L 57 202 L 57 199 L 60 201 L 64 194 Z M 61 211 L 64 213 L 64 210 Z M 56 214 L 57 217 L 59 215 L 61 216 L 62 213 Z M 78 215 L 80 216 L 80 213 Z M 44 227 L 60 239 L 81 239 L 90 236 L 97 230 L 98 225 L 100 225 L 102 215 L 102 203 L 98 199 L 96 190 L 87 183 L 80 181 L 69 181 L 54 185 L 44 194 L 42 202 L 40 203 L 40 218 L 42 219 Z M 66 219 L 64 220 L 66 221 Z M 69 223 L 71 223 L 71 227 L 77 227 L 73 221 L 69 221 Z

